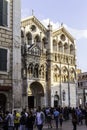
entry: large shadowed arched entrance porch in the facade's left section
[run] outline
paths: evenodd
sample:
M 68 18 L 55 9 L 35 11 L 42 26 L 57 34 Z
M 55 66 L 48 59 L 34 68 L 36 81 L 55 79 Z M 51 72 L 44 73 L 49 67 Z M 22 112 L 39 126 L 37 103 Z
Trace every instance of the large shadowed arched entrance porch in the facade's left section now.
M 30 85 L 32 95 L 28 96 L 28 106 L 37 107 L 41 106 L 41 98 L 44 96 L 43 86 L 39 82 L 33 82 Z

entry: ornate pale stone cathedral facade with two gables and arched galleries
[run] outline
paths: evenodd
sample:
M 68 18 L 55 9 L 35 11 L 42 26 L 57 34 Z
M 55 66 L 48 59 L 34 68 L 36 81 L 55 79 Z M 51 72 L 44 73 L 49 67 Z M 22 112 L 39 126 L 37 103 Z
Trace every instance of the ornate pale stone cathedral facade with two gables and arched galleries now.
M 65 27 L 23 19 L 21 46 L 23 104 L 76 107 L 76 43 Z

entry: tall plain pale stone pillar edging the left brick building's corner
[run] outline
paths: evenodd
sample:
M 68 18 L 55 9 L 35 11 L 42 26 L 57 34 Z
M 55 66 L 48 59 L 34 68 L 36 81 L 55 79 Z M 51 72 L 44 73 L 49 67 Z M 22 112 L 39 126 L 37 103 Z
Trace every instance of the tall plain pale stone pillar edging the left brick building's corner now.
M 13 109 L 22 109 L 21 84 L 21 0 L 13 0 Z

